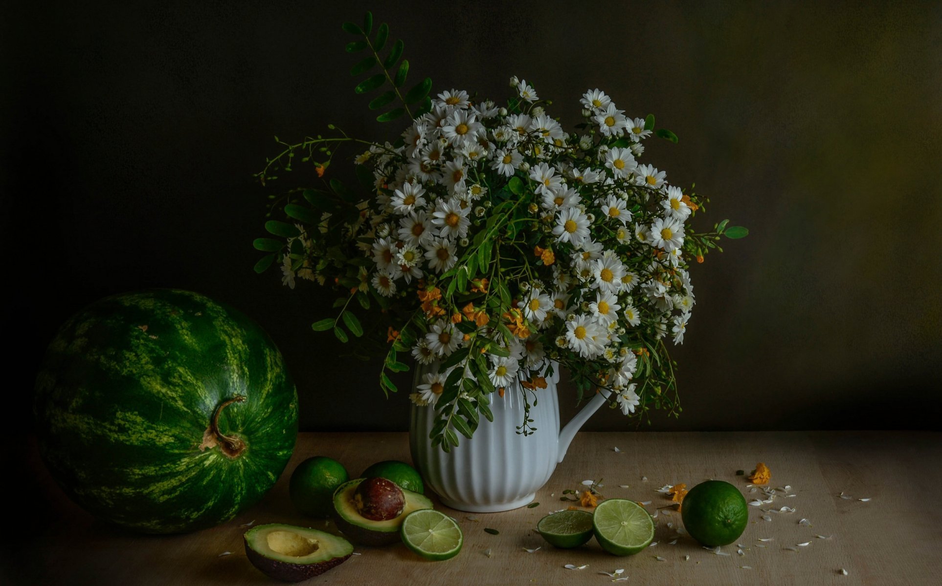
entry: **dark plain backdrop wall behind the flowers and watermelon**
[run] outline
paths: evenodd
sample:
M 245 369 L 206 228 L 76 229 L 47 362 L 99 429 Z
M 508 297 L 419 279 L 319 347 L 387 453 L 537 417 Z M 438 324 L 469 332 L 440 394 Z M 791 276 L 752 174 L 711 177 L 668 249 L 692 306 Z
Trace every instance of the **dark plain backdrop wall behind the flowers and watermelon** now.
M 311 331 L 332 297 L 256 276 L 252 172 L 333 122 L 386 138 L 352 92 L 344 20 L 372 8 L 414 80 L 503 99 L 516 74 L 571 127 L 587 88 L 680 142 L 644 159 L 748 239 L 693 268 L 679 420 L 652 429 L 930 428 L 942 407 L 938 3 L 105 2 L 4 8 L 0 166 L 14 428 L 76 309 L 144 287 L 243 309 L 279 344 L 308 430 L 401 430 L 378 366 Z M 338 164 L 333 169 L 349 173 Z M 332 169 L 332 170 L 333 170 Z M 283 187 L 313 181 L 302 173 Z M 20 380 L 22 379 L 22 380 Z M 403 383 L 405 381 L 403 380 Z M 567 411 L 573 401 L 563 396 Z M 368 405 L 368 406 L 366 406 Z M 624 429 L 615 413 L 593 429 Z

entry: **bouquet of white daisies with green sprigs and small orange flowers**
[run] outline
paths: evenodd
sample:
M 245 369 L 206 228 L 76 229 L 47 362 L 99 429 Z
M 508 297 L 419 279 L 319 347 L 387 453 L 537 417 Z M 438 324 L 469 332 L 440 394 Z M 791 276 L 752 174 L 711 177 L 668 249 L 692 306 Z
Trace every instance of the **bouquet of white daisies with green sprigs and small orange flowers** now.
M 388 35 L 382 24 L 372 36 L 371 20 L 345 24 L 375 55 L 361 68 L 381 65 Z M 300 277 L 341 288 L 339 311 L 313 326 L 340 341 L 349 332 L 385 344 L 385 391 L 397 390 L 387 371 L 409 369 L 400 356 L 422 365 L 410 398 L 436 410 L 431 439 L 445 450 L 457 445 L 450 430 L 471 437 L 479 416 L 492 418 L 491 393 L 512 389 L 530 403 L 557 365 L 580 399 L 606 388 L 625 415 L 651 408 L 676 415 L 675 363 L 665 341 L 681 343 L 690 323 L 689 262 L 702 262 L 723 235 L 748 233 L 726 221 L 693 231 L 689 220 L 707 199 L 640 162 L 645 139 L 676 136 L 655 131 L 653 116 L 625 116 L 599 89 L 579 100 L 577 133 L 567 133 L 546 111 L 549 103 L 515 77 L 505 104 L 456 89 L 431 99 L 428 78 L 403 96 L 395 89 L 405 80 L 401 64 L 393 72 L 401 41 L 390 55 L 392 63 L 382 61 L 394 86 L 386 103 L 398 97 L 402 105 L 379 119 L 411 123 L 393 143 L 350 138 L 333 126 L 339 135 L 284 143 L 258 174 L 263 183 L 273 169 L 289 169 L 296 154 L 323 177 L 337 147 L 365 143 L 355 158 L 365 192 L 333 179 L 329 189 L 277 199 L 273 209 L 293 222 L 268 221 L 282 239 L 256 240 L 269 253 L 256 270 L 280 262 L 291 287 Z M 357 91 L 381 87 L 378 75 Z M 376 87 L 360 91 L 370 80 Z M 363 315 L 380 311 L 361 319 L 354 305 Z M 521 433 L 530 423 L 522 421 Z

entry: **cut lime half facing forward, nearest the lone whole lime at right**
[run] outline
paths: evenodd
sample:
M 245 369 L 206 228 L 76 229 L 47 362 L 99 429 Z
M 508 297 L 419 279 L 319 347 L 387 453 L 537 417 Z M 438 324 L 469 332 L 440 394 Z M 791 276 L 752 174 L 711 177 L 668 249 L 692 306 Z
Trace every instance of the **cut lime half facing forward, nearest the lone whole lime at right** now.
M 631 556 L 651 544 L 654 521 L 634 500 L 606 499 L 595 507 L 593 530 L 598 545 L 616 556 Z

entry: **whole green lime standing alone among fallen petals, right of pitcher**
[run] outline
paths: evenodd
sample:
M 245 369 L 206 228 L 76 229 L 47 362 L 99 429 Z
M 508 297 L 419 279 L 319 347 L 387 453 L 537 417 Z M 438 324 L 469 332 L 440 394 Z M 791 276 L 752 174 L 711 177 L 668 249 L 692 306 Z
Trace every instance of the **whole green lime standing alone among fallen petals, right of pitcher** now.
M 690 489 L 680 506 L 684 528 L 705 546 L 725 546 L 739 539 L 749 523 L 749 509 L 739 488 L 707 481 Z

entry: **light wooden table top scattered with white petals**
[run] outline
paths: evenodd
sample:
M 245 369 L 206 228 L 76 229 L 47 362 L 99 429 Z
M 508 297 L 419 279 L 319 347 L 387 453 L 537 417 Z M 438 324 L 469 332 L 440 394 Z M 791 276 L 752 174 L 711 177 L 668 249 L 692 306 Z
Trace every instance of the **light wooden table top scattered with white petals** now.
M 34 461 L 47 517 L 55 520 L 19 541 L 13 560 L 5 562 L 16 567 L 4 568 L 0 578 L 6 574 L 8 580 L 0 582 L 277 583 L 247 560 L 243 524 L 323 528 L 324 521 L 299 515 L 287 496 L 291 470 L 312 455 L 333 457 L 356 474 L 376 461 L 408 461 L 408 437 L 301 434 L 292 462 L 260 504 L 215 529 L 174 536 L 136 535 L 95 521 L 66 499 Z M 605 497 L 650 500 L 652 514 L 669 504 L 656 492 L 668 483 L 690 487 L 708 478 L 725 480 L 753 500 L 756 494 L 736 470 L 748 473 L 759 461 L 771 467 L 772 487 L 788 484 L 787 494 L 795 496 L 749 507 L 750 523 L 738 542 L 744 555 L 735 545 L 723 547 L 730 555 L 715 555 L 688 536 L 677 537 L 680 515 L 671 509 L 658 511 L 657 545 L 627 558 L 605 553 L 594 540 L 577 549 L 554 549 L 533 531 L 543 515 L 566 506 L 560 502 L 564 489 L 588 479 L 604 479 Z M 537 494 L 537 507 L 475 515 L 436 501 L 464 531 L 463 551 L 456 558 L 426 562 L 401 544 L 356 546 L 361 555 L 305 583 L 568 586 L 608 583 L 611 578 L 600 573 L 622 568 L 627 584 L 942 584 L 940 463 L 942 435 L 929 432 L 580 433 Z M 841 493 L 850 499 L 840 498 Z M 783 506 L 795 512 L 760 510 Z M 800 524 L 803 518 L 811 526 Z M 493 535 L 484 528 L 500 532 Z M 809 545 L 798 546 L 804 543 Z M 532 553 L 525 549 L 536 547 Z M 220 556 L 227 551 L 232 553 Z M 586 567 L 571 570 L 566 564 Z M 847 576 L 839 573 L 841 568 Z

